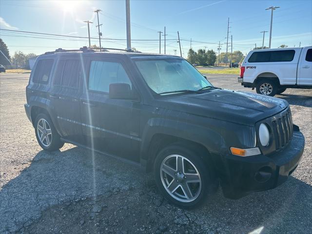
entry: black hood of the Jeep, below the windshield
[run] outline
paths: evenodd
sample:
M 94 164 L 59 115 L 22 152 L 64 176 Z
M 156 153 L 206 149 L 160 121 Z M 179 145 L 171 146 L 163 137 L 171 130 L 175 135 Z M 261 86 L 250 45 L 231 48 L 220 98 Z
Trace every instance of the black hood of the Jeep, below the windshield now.
M 168 109 L 245 125 L 254 125 L 288 106 L 288 102 L 280 98 L 222 89 L 203 94 L 166 97 L 162 101 Z

